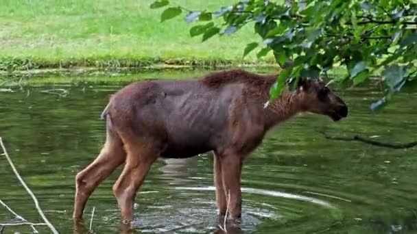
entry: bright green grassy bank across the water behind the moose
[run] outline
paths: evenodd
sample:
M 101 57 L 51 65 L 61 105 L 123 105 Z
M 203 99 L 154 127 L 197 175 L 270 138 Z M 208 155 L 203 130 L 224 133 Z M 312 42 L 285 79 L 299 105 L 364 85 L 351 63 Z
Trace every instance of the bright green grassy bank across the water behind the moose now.
M 71 66 L 213 66 L 242 60 L 243 48 L 257 41 L 252 25 L 232 36 L 206 42 L 191 38 L 181 17 L 160 23 L 153 0 L 1 0 L 0 70 Z M 172 0 L 195 10 L 218 10 L 235 1 Z M 271 57 L 270 57 L 271 58 Z

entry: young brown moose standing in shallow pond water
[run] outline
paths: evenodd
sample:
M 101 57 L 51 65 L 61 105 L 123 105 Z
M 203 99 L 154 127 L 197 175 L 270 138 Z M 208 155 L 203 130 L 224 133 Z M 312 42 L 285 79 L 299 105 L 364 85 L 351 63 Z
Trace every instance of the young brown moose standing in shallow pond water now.
M 115 168 L 125 163 L 113 192 L 124 220 L 133 218 L 134 197 L 158 157 L 186 158 L 214 152 L 214 183 L 220 216 L 241 216 L 243 159 L 274 125 L 300 112 L 337 121 L 346 104 L 324 83 L 300 79 L 264 108 L 276 75 L 243 70 L 213 73 L 199 80 L 139 81 L 114 94 L 104 109 L 106 143 L 76 176 L 73 217 L 82 218 L 86 200 Z M 230 202 L 226 198 L 230 192 Z

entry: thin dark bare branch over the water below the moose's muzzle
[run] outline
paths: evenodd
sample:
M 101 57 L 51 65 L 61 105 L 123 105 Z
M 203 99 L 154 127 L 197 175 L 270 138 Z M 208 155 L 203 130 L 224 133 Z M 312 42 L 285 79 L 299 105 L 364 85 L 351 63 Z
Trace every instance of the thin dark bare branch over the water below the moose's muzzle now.
M 372 144 L 374 146 L 380 146 L 385 148 L 412 148 L 414 146 L 417 146 L 417 142 L 409 142 L 409 143 L 386 143 L 386 142 L 377 142 L 374 140 L 370 140 L 368 138 L 361 137 L 360 135 L 351 135 L 351 136 L 344 136 L 344 135 L 329 135 L 328 133 L 325 133 L 324 131 L 319 131 L 319 133 L 322 133 L 324 135 L 324 138 L 329 140 L 344 140 L 347 142 L 364 142 L 366 144 Z

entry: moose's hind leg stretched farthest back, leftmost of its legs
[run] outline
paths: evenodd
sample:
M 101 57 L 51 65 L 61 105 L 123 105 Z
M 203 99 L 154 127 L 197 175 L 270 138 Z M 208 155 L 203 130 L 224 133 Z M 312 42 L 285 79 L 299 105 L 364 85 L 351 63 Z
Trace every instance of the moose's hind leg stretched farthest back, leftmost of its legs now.
M 98 157 L 79 172 L 75 177 L 75 200 L 73 218 L 79 220 L 88 197 L 118 166 L 126 160 L 121 139 L 110 130 L 107 131 L 106 143 Z

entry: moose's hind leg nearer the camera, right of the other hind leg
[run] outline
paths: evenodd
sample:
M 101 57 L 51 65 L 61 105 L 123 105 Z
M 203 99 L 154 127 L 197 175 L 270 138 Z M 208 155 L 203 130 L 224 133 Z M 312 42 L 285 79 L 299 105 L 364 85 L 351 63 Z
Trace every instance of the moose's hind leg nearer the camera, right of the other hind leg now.
M 125 144 L 128 153 L 126 165 L 119 179 L 113 185 L 113 192 L 117 198 L 121 216 L 127 222 L 133 220 L 133 204 L 136 192 L 145 180 L 150 167 L 159 156 L 156 153 L 157 151 L 150 150 L 148 146 L 141 148 L 140 145 L 143 144 Z

